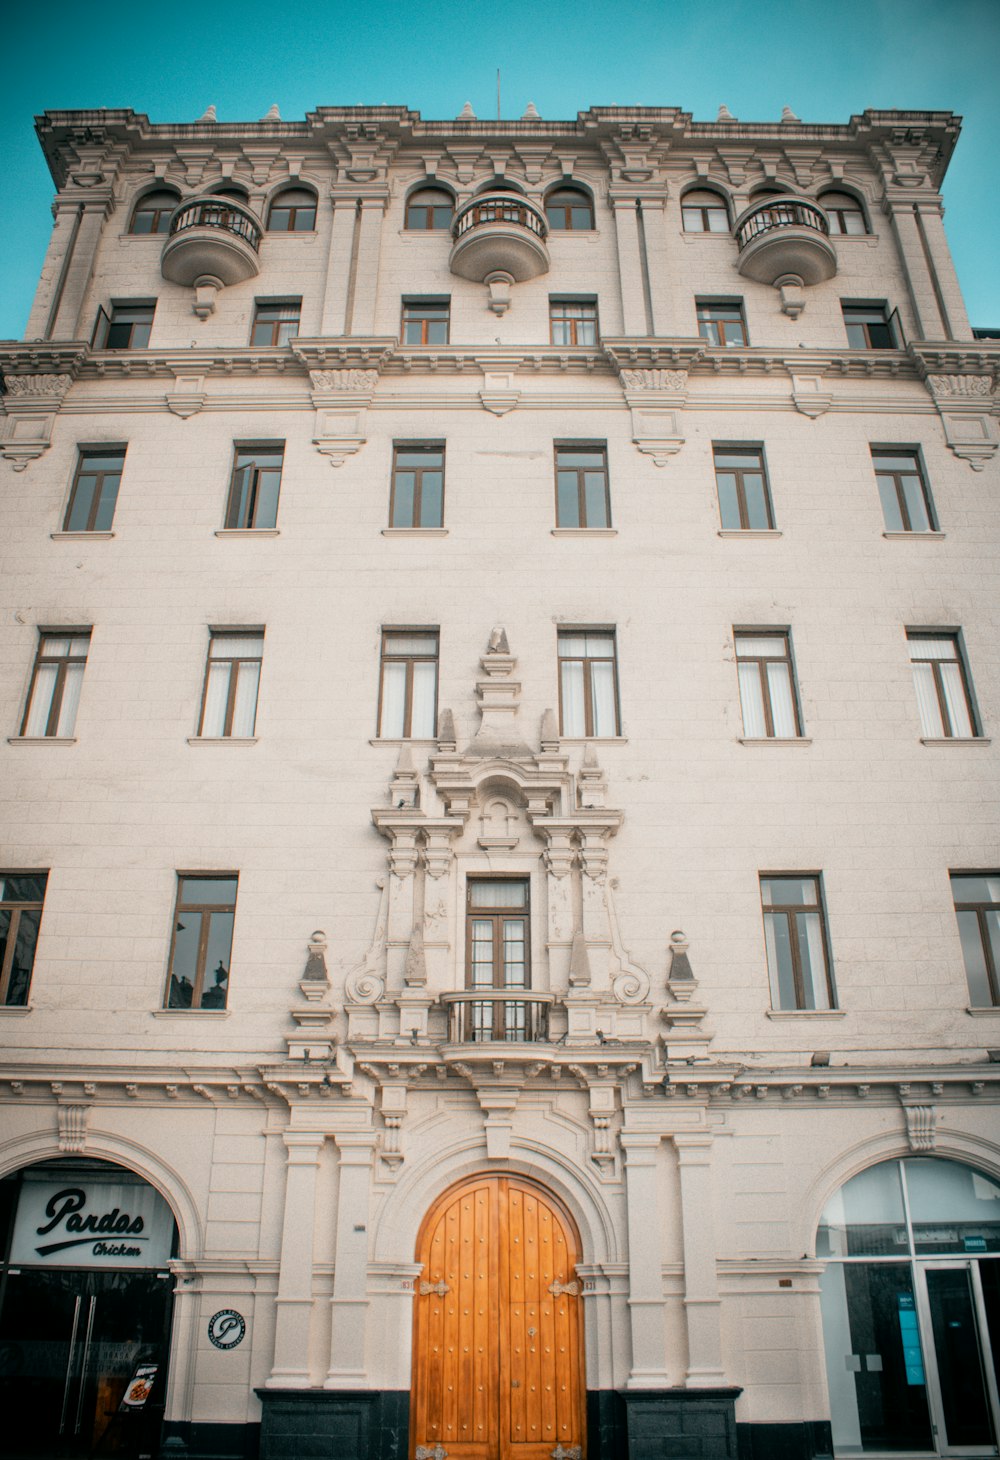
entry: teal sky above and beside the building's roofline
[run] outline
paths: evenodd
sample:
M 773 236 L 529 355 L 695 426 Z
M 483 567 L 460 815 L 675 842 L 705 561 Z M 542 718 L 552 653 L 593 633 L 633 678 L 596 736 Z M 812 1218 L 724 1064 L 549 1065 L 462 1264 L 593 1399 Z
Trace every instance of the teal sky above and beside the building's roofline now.
M 547 118 L 593 105 L 680 107 L 714 121 L 845 123 L 874 108 L 955 111 L 946 228 L 969 317 L 1000 326 L 1000 0 L 48 0 L 0 34 L 0 339 L 25 328 L 51 228 L 32 118 L 131 107 L 153 121 L 251 121 L 277 102 L 406 105 Z

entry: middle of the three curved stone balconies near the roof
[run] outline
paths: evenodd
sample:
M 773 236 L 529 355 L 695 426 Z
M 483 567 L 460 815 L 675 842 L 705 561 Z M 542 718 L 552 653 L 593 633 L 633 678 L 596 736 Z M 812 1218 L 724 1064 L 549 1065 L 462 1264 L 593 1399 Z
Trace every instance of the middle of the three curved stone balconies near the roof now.
M 512 283 L 549 272 L 545 213 L 518 193 L 483 193 L 458 209 L 451 225 L 451 272 L 486 283 L 507 274 Z

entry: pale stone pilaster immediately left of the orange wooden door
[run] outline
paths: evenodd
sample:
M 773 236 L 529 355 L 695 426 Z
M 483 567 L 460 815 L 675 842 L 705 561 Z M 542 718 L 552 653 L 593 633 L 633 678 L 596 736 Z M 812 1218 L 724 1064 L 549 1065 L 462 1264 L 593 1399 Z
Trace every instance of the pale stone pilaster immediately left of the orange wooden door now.
M 334 1133 L 340 1156 L 337 1247 L 330 1299 L 330 1369 L 324 1388 L 366 1388 L 368 1209 L 372 1130 Z

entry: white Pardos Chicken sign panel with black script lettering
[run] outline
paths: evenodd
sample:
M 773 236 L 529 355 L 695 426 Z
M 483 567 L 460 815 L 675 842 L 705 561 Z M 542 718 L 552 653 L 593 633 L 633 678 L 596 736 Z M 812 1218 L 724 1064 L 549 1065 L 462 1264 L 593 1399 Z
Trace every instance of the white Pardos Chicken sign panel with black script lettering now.
M 25 1172 L 10 1261 L 42 1267 L 164 1267 L 174 1216 L 140 1180 Z

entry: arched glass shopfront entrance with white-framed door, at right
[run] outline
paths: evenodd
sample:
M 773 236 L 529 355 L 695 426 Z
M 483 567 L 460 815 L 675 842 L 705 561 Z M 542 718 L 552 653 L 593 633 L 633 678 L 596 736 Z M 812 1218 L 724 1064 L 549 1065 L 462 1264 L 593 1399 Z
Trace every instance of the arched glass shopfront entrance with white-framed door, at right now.
M 836 1454 L 997 1454 L 1000 1183 L 885 1161 L 826 1203 L 816 1256 Z

